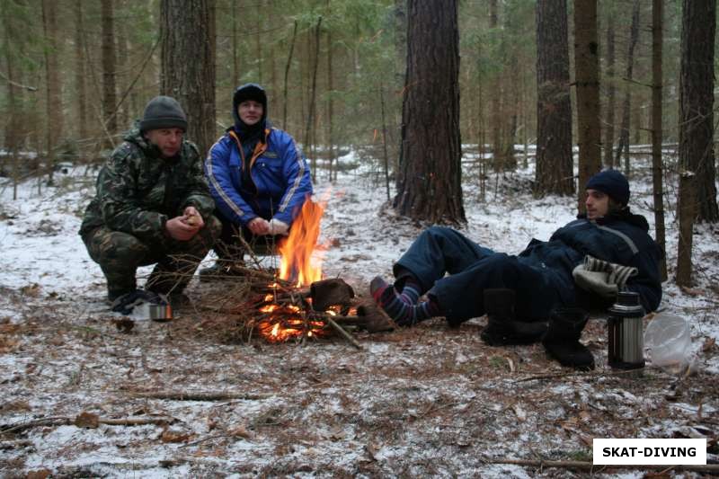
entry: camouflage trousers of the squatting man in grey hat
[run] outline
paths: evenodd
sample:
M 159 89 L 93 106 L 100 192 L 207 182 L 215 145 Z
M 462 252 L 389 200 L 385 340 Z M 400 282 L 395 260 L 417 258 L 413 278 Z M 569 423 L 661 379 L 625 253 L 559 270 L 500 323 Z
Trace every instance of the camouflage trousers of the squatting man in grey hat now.
M 135 290 L 138 266 L 155 263 L 145 288 L 162 294 L 181 293 L 215 244 L 221 229 L 219 220 L 209 217 L 189 241 L 166 239 L 162 244 L 150 244 L 100 226 L 83 235 L 83 242 L 107 279 L 110 299 Z

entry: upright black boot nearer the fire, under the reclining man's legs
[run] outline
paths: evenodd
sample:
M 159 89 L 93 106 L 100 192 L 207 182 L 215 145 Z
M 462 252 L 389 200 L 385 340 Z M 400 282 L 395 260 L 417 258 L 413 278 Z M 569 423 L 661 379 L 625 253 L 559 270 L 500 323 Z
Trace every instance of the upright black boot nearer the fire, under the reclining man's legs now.
M 531 344 L 538 342 L 546 333 L 546 323 L 524 323 L 515 319 L 514 297 L 513 289 L 484 289 L 488 323 L 480 337 L 486 344 Z

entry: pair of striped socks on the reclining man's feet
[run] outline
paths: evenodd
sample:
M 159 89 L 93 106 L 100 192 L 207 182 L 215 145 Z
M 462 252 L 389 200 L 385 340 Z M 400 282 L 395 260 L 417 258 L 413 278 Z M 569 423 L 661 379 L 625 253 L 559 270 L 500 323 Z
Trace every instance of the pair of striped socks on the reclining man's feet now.
M 414 298 L 416 301 L 416 298 L 419 297 L 419 291 L 412 286 L 408 290 L 408 285 L 405 285 L 403 294 L 398 295 L 394 287 L 377 276 L 369 283 L 369 291 L 377 305 L 401 326 L 412 326 L 439 315 L 439 306 L 434 301 L 423 301 L 418 305 L 410 302 L 410 298 Z

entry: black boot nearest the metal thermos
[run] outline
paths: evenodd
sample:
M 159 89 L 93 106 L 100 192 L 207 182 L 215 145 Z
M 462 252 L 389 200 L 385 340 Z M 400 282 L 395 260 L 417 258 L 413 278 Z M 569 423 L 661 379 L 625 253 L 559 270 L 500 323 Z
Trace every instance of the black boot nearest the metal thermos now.
M 558 307 L 552 311 L 549 329 L 542 338 L 546 352 L 563 366 L 585 371 L 593 369 L 591 351 L 579 342 L 588 319 L 587 312 L 579 307 Z

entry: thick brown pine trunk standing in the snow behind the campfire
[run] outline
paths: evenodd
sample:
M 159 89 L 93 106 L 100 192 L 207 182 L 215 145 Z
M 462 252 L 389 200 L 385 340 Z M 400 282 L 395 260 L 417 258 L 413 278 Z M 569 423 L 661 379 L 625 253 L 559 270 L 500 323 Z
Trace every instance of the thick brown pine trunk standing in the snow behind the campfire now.
M 464 223 L 457 0 L 410 0 L 407 17 L 403 162 L 395 208 L 417 220 Z

